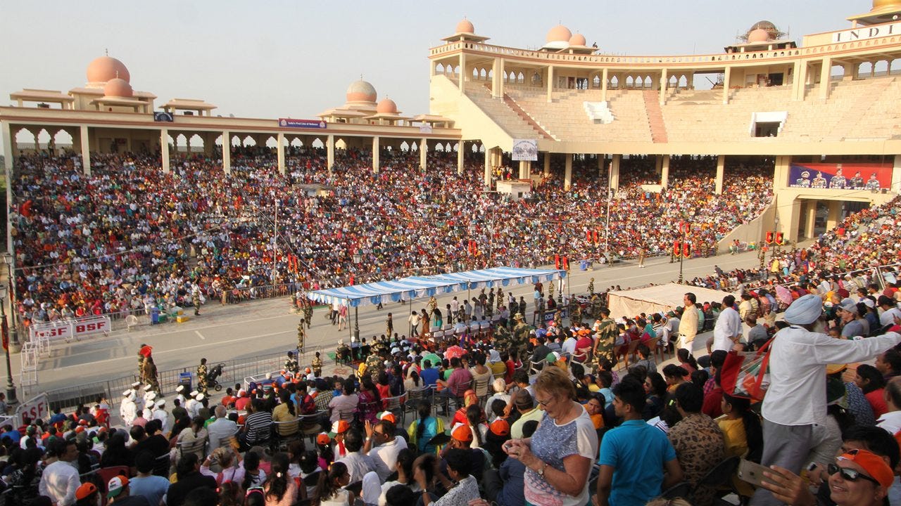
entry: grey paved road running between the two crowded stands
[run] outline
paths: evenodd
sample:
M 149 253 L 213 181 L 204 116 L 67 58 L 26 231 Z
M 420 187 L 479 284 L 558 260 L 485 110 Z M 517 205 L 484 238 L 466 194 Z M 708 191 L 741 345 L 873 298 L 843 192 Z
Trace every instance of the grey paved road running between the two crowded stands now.
M 759 265 L 755 252 L 745 252 L 734 256 L 721 255 L 714 258 L 694 258 L 686 260 L 686 279 L 706 276 L 713 272 L 714 265 L 729 271 L 736 267 Z M 578 265 L 567 278 L 568 290 L 572 294 L 587 292 L 589 278 L 595 278 L 595 290 L 603 292 L 611 285 L 623 288 L 669 283 L 678 279 L 678 262 L 670 264 L 669 258 L 651 258 L 645 261 L 645 268 L 635 264 L 615 267 L 597 267 L 596 270 L 579 271 Z M 523 295 L 532 309 L 532 285 L 508 286 L 519 298 Z M 473 292 L 475 296 L 478 292 Z M 439 307 L 450 303 L 456 295 L 460 301 L 465 292 L 442 296 Z M 412 307 L 419 311 L 425 300 L 415 301 Z M 409 303 L 388 303 L 385 309 L 377 311 L 375 306 L 359 309 L 360 336 L 369 338 L 385 331 L 387 312 L 393 312 L 395 330 L 407 332 L 406 317 L 410 314 Z M 208 302 L 199 317 L 192 312 L 190 321 L 146 326 L 140 329 L 115 332 L 106 337 L 95 337 L 80 342 L 55 344 L 50 355 L 39 362 L 39 386 L 33 390 L 48 391 L 63 386 L 86 384 L 135 372 L 136 353 L 141 343 L 153 346 L 153 357 L 159 370 L 181 367 L 196 367 L 200 357 L 207 357 L 211 363 L 231 358 L 244 358 L 286 351 L 295 346 L 296 327 L 300 318 L 289 311 L 287 297 L 220 306 Z M 307 346 L 323 346 L 332 349 L 338 339 L 349 341 L 348 330 L 338 332 L 337 327 L 325 318 L 326 310 L 314 312 L 313 328 L 307 333 Z M 353 311 L 350 312 L 353 325 Z M 696 343 L 700 344 L 700 343 Z M 18 383 L 20 360 L 13 357 L 14 381 Z

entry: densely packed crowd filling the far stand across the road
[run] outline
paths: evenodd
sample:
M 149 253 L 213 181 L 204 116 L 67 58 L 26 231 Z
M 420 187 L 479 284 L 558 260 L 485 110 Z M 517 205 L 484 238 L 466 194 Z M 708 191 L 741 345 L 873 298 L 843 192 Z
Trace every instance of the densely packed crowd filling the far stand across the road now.
M 309 289 L 605 252 L 605 177 L 584 160 L 571 189 L 555 167 L 528 198 L 512 200 L 484 191 L 475 155 L 462 175 L 453 152 L 430 153 L 423 171 L 414 151 L 387 150 L 378 174 L 366 149 L 337 150 L 332 172 L 323 149 L 289 149 L 284 176 L 275 158 L 268 148 L 234 148 L 224 174 L 218 155 L 181 153 L 164 174 L 159 156 L 96 153 L 90 176 L 75 155 L 17 158 L 10 218 L 23 321 L 184 307 L 195 288 L 229 303 L 267 285 Z M 713 195 L 705 158 L 674 158 L 669 189 L 645 192 L 649 164 L 623 160 L 610 212 L 615 255 L 669 251 L 680 220 L 705 250 L 771 195 L 762 166 L 728 167 L 726 191 Z

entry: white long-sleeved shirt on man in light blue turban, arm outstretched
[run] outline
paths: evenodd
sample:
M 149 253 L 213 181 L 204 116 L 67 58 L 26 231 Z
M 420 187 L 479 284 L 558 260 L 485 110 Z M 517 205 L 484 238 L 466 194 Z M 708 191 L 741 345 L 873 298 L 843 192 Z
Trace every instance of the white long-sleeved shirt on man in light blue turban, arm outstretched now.
M 869 360 L 899 342 L 901 334 L 896 332 L 850 341 L 796 326 L 779 330 L 770 345 L 770 384 L 763 399 L 763 418 L 780 425 L 823 423 L 825 366 Z

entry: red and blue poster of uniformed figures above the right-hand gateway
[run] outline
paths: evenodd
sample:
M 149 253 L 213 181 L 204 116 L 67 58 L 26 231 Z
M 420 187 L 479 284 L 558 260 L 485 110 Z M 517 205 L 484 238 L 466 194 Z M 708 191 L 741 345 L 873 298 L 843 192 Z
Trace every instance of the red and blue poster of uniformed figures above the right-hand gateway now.
M 820 190 L 879 190 L 891 186 L 892 165 L 881 163 L 793 163 L 788 186 Z

